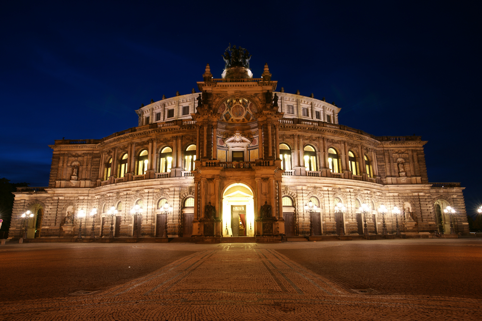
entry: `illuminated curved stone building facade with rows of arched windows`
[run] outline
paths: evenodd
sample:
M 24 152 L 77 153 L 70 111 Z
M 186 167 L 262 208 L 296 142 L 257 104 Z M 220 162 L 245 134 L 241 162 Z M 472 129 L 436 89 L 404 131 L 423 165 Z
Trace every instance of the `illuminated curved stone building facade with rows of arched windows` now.
M 136 110 L 135 128 L 56 140 L 49 186 L 15 193 L 10 237 L 21 237 L 25 226 L 27 238 L 79 237 L 83 209 L 83 237 L 112 236 L 112 225 L 115 237 L 130 238 L 136 204 L 143 209 L 139 237 L 162 237 L 166 226 L 168 237 L 235 235 L 231 228 L 256 237 L 366 236 L 395 233 L 397 220 L 407 236 L 449 234 L 450 222 L 455 235 L 469 232 L 463 188 L 428 182 L 421 137 L 375 137 L 340 125 L 336 105 L 276 91 L 268 65 L 261 78 L 219 79 L 207 65 L 203 79 L 201 93 Z M 312 213 L 304 208 L 310 200 Z M 167 214 L 164 202 L 173 207 Z M 337 203 L 345 213 L 335 213 Z M 443 213 L 449 205 L 451 217 Z M 112 206 L 117 214 L 108 216 Z M 244 210 L 239 227 L 230 206 Z M 22 220 L 27 210 L 35 216 Z

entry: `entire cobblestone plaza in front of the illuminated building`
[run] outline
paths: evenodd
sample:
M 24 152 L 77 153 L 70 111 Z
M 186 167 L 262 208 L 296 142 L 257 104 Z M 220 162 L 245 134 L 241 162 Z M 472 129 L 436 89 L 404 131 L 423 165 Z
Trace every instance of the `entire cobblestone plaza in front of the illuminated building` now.
M 481 263 L 481 238 L 10 243 L 0 320 L 482 320 Z

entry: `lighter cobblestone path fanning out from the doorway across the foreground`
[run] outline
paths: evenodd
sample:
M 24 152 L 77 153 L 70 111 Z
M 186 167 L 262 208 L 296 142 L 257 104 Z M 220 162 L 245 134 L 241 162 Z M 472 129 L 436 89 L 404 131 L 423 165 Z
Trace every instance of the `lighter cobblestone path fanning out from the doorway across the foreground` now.
M 375 242 L 350 242 L 341 246 L 366 246 L 369 251 Z M 407 240 L 392 244 L 380 241 L 379 244 L 385 244 L 388 251 L 397 251 L 407 246 L 402 242 Z M 459 247 L 473 245 L 474 253 L 480 254 L 482 250 L 480 243 L 454 242 Z M 316 273 L 303 266 L 306 261 L 316 261 L 314 254 L 329 251 L 336 244 L 130 245 L 146 256 L 152 255 L 156 248 L 162 248 L 162 253 L 168 249 L 174 253 L 181 249 L 190 252 L 157 270 L 93 294 L 29 296 L 25 300 L 3 297 L 0 320 L 481 320 L 480 298 L 456 297 L 441 291 L 443 289 L 435 289 L 432 295 L 418 295 L 416 291 L 403 295 L 357 294 L 347 287 L 349 281 L 334 282 L 331 276 L 323 275 L 322 270 Z M 423 240 L 406 244 L 425 246 Z M 114 253 L 119 251 L 114 246 L 120 244 L 106 245 Z M 126 251 L 127 245 L 120 246 Z M 444 241 L 438 246 L 450 248 L 452 244 Z M 5 252 L 21 255 L 23 251 L 18 249 L 22 248 L 10 246 Z M 305 254 L 308 257 L 303 265 L 282 254 L 293 255 L 307 249 L 311 252 Z M 44 251 L 49 249 L 36 252 Z M 0 257 L 5 252 L 0 252 Z M 480 256 L 469 260 L 481 263 Z M 365 270 L 365 273 L 371 272 Z M 11 290 L 16 291 L 14 284 L 11 286 Z

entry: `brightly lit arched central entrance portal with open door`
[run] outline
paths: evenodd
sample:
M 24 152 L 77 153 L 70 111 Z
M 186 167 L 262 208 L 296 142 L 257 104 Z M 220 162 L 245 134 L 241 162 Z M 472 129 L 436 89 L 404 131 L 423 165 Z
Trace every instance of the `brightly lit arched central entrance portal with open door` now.
M 243 183 L 229 185 L 223 193 L 223 236 L 254 236 L 254 199 Z

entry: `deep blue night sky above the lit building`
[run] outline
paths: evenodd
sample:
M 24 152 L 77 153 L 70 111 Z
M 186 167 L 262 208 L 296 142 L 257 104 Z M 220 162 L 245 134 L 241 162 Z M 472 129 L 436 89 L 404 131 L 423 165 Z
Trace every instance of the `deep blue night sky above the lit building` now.
M 480 2 L 335 2 L 2 1 L 0 177 L 47 186 L 48 144 L 137 126 L 141 103 L 198 91 L 206 63 L 221 77 L 231 43 L 277 90 L 334 101 L 340 124 L 422 136 L 429 181 L 461 182 L 473 213 Z

